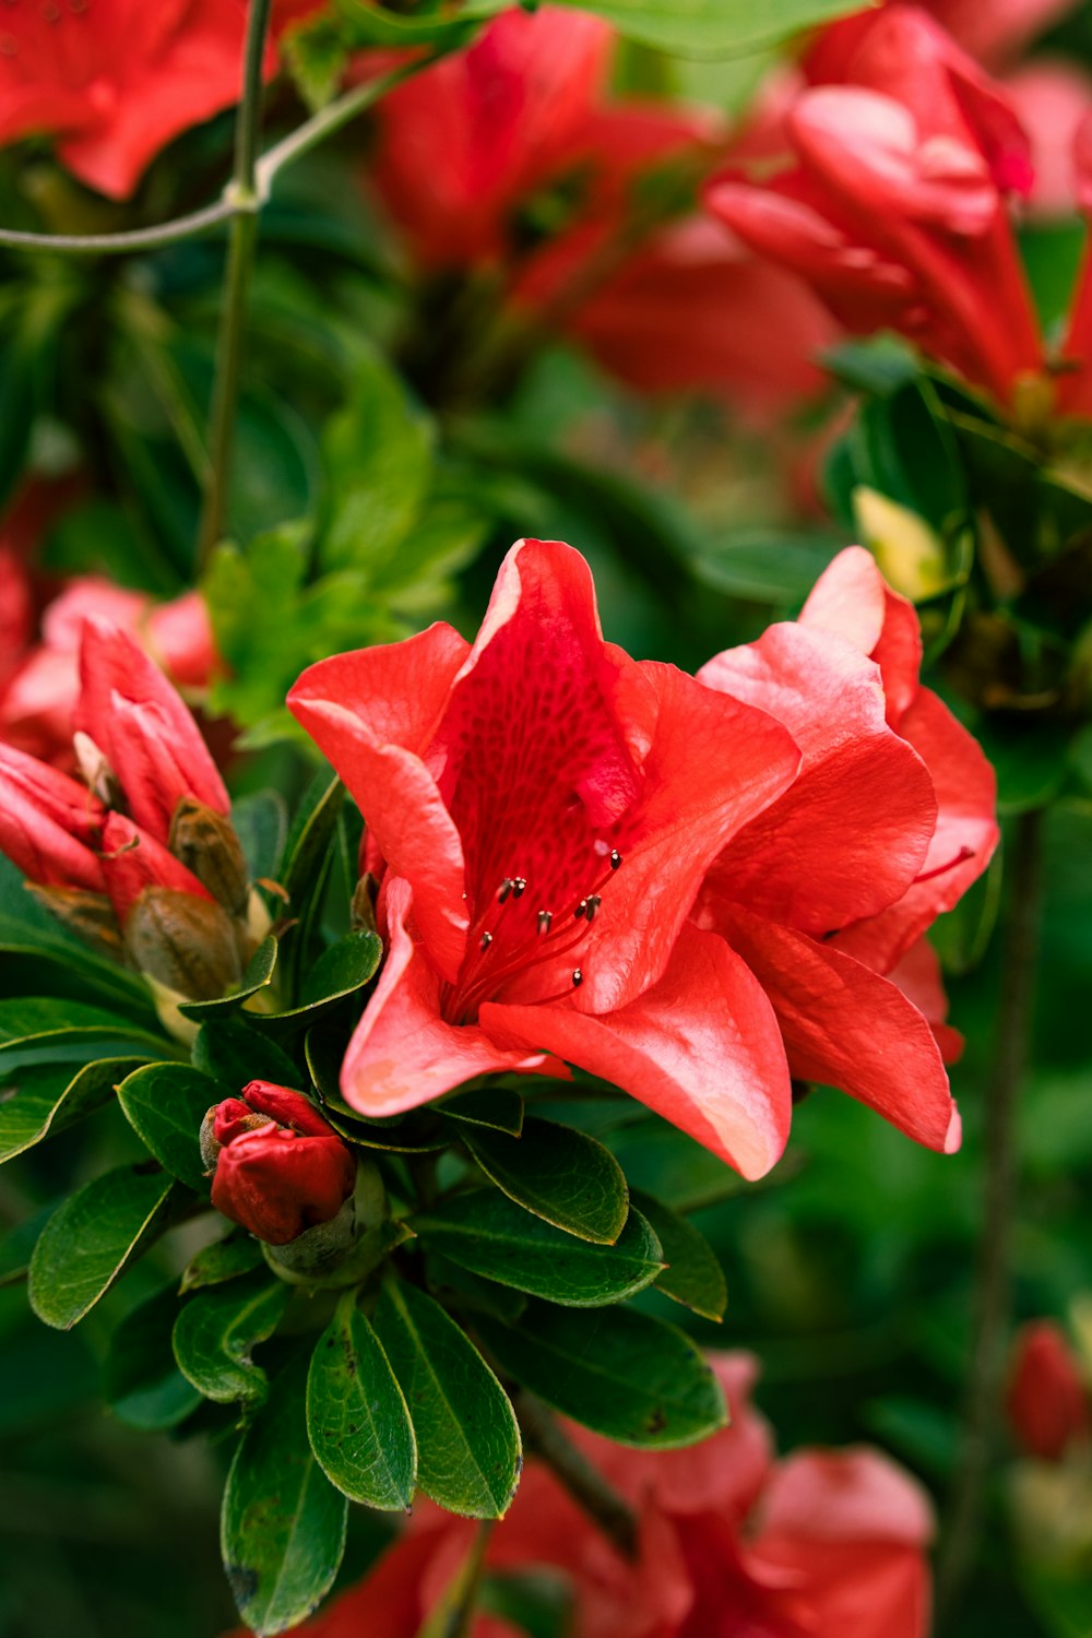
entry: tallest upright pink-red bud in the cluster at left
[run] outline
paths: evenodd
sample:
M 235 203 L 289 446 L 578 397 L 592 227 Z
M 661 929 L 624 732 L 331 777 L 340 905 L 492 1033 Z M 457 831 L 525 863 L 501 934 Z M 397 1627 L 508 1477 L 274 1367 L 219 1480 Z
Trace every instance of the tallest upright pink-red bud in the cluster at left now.
M 116 626 L 88 619 L 75 727 L 103 752 L 129 812 L 159 842 L 183 798 L 218 814 L 231 803 L 196 722 L 162 672 Z

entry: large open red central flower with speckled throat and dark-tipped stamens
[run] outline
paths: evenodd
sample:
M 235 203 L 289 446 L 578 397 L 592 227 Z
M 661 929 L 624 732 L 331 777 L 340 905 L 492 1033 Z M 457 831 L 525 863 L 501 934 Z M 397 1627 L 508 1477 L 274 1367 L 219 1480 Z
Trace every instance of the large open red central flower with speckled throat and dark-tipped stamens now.
M 411 1109 L 557 1053 L 747 1176 L 784 1145 L 760 986 L 688 924 L 735 830 L 791 781 L 761 713 L 604 644 L 591 575 L 517 544 L 473 649 L 449 626 L 305 672 L 288 703 L 386 858 L 390 953 L 342 1089 Z

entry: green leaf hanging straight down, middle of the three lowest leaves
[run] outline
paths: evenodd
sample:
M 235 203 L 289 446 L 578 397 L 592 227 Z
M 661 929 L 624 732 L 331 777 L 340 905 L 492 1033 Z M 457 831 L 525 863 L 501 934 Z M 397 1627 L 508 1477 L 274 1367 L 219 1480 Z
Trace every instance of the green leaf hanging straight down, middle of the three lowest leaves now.
M 350 1502 L 404 1512 L 417 1443 L 381 1343 L 349 1291 L 311 1356 L 308 1433 L 323 1473 Z

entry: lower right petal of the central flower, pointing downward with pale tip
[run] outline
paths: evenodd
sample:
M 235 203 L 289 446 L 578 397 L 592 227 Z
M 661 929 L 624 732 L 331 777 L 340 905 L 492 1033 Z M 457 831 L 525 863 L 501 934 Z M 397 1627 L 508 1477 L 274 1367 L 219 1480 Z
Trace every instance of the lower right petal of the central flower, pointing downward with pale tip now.
M 684 924 L 668 968 L 604 1017 L 568 1001 L 481 1007 L 508 1050 L 542 1048 L 622 1086 L 745 1178 L 761 1178 L 789 1135 L 789 1073 L 761 986 L 714 934 Z

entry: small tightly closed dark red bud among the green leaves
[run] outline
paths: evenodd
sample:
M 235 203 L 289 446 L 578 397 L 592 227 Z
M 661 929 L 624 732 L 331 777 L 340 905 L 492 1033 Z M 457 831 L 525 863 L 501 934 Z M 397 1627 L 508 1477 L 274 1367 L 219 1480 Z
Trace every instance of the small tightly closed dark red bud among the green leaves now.
M 213 1206 L 268 1245 L 329 1222 L 349 1199 L 357 1161 L 301 1093 L 250 1081 L 205 1117 L 216 1166 Z

